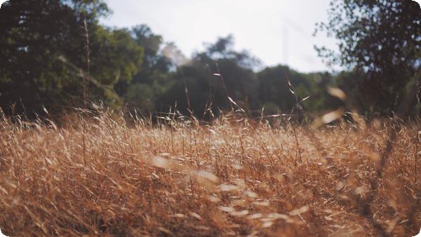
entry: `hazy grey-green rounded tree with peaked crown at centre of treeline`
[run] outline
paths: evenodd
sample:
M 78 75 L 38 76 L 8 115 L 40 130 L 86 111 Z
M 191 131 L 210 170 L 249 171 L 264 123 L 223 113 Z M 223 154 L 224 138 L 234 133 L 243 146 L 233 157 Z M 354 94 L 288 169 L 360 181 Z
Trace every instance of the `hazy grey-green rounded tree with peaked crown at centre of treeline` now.
M 257 109 L 258 83 L 251 67 L 259 62 L 246 51 L 236 52 L 233 46 L 234 39 L 227 36 L 215 44 L 208 43 L 206 50 L 195 53 L 189 61 L 176 52 L 167 53 L 179 67 L 173 76 L 174 86 L 159 102 L 166 109 L 176 102 L 183 114 L 192 111 L 197 118 L 205 119 L 229 110 L 232 102 L 228 97 L 245 108 Z

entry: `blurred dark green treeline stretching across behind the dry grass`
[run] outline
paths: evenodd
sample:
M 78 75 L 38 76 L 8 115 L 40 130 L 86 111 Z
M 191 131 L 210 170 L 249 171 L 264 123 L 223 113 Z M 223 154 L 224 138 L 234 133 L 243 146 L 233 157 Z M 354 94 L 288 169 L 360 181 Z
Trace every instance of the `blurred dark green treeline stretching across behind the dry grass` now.
M 419 45 L 413 67 L 387 83 L 387 74 L 378 76 L 369 67 L 335 74 L 304 74 L 285 65 L 257 70 L 259 60 L 234 50 L 231 35 L 187 58 L 147 25 L 100 25 L 98 19 L 108 13 L 101 0 L 6 1 L 0 10 L 4 113 L 35 118 L 46 108 L 60 116 L 65 108 L 100 101 L 126 115 L 176 108 L 204 120 L 238 107 L 249 116 L 299 112 L 307 118 L 338 108 L 364 116 L 391 115 L 402 104 L 408 107 L 405 116 L 419 113 L 415 96 L 408 99 L 420 94 L 414 76 Z M 416 93 L 406 93 L 413 88 Z

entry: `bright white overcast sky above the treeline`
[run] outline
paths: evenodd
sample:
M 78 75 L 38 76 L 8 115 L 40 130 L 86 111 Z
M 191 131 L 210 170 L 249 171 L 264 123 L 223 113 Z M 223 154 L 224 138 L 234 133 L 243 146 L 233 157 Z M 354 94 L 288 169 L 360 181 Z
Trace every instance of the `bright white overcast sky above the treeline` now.
M 106 0 L 114 12 L 104 25 L 146 24 L 187 57 L 203 50 L 203 42 L 234 35 L 234 48 L 248 50 L 263 66 L 288 65 L 299 72 L 330 70 L 314 44 L 335 48 L 335 39 L 314 33 L 327 22 L 330 0 Z

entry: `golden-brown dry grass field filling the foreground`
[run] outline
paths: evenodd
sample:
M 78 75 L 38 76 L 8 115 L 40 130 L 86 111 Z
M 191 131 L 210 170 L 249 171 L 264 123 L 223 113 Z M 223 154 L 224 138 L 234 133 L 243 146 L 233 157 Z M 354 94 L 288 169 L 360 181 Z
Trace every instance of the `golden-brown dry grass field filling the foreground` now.
M 208 126 L 70 117 L 60 128 L 1 118 L 6 236 L 415 236 L 421 228 L 419 121 L 313 129 L 229 116 Z

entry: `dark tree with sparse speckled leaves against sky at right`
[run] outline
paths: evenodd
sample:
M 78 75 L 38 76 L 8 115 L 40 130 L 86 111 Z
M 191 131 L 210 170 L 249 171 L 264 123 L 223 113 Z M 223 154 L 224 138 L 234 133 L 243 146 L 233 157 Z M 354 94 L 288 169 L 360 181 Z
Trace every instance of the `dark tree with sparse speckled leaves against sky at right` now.
M 372 111 L 397 111 L 406 84 L 415 80 L 415 72 L 420 74 L 420 5 L 407 0 L 333 0 L 328 17 L 316 32 L 335 36 L 340 52 L 315 47 L 319 55 L 361 76 L 359 90 Z

